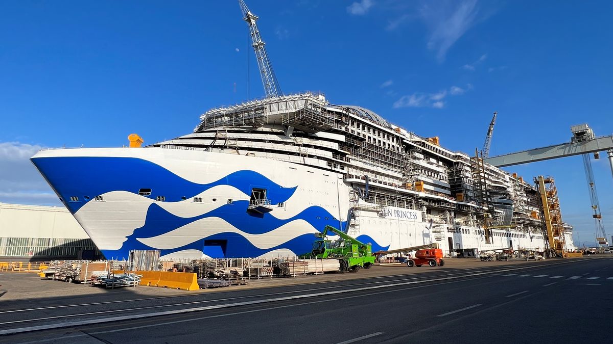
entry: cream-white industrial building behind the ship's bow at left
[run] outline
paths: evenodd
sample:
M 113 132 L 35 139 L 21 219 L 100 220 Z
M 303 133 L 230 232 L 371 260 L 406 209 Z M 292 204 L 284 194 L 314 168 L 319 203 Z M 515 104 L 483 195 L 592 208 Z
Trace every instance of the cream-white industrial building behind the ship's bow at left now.
M 93 259 L 100 253 L 66 208 L 0 203 L 0 259 Z

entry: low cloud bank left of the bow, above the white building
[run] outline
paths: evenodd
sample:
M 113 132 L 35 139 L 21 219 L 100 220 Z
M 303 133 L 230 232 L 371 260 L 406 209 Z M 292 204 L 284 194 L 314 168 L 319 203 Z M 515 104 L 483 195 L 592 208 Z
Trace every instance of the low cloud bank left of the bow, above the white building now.
M 29 159 L 42 146 L 0 143 L 0 202 L 58 205 L 61 203 Z

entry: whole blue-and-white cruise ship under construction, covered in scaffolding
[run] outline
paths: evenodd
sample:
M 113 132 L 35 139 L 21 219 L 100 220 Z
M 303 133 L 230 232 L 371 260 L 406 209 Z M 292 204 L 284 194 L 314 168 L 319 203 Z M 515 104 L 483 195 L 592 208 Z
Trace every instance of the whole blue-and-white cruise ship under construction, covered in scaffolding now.
M 547 246 L 530 182 L 310 92 L 213 108 L 192 133 L 144 148 L 31 160 L 107 259 L 301 255 L 326 225 L 373 252 Z

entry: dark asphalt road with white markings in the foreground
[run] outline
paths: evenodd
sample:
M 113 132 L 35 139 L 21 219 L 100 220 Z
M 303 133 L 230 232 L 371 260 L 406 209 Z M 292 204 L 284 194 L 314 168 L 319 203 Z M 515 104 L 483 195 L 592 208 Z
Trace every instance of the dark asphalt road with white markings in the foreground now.
M 180 300 L 2 307 L 0 333 L 48 329 L 0 342 L 592 342 L 609 335 L 613 320 L 613 259 L 441 269 Z M 155 316 L 160 312 L 166 314 Z M 58 328 L 71 323 L 81 326 Z

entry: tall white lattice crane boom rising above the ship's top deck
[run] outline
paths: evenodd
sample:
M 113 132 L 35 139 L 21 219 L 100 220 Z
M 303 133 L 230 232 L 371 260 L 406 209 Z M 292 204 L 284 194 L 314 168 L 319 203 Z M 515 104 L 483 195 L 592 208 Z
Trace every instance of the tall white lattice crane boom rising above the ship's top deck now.
M 272 65 L 268 59 L 268 53 L 266 52 L 264 41 L 260 36 L 260 31 L 257 29 L 256 21 L 259 19 L 257 15 L 254 15 L 249 11 L 245 1 L 238 0 L 240 10 L 243 12 L 243 20 L 247 22 L 249 26 L 249 32 L 251 32 L 251 47 L 256 52 L 257 67 L 260 70 L 260 76 L 262 77 L 262 85 L 264 86 L 264 92 L 267 98 L 278 97 L 282 95 L 279 82 L 276 80 L 275 72 L 272 70 Z

